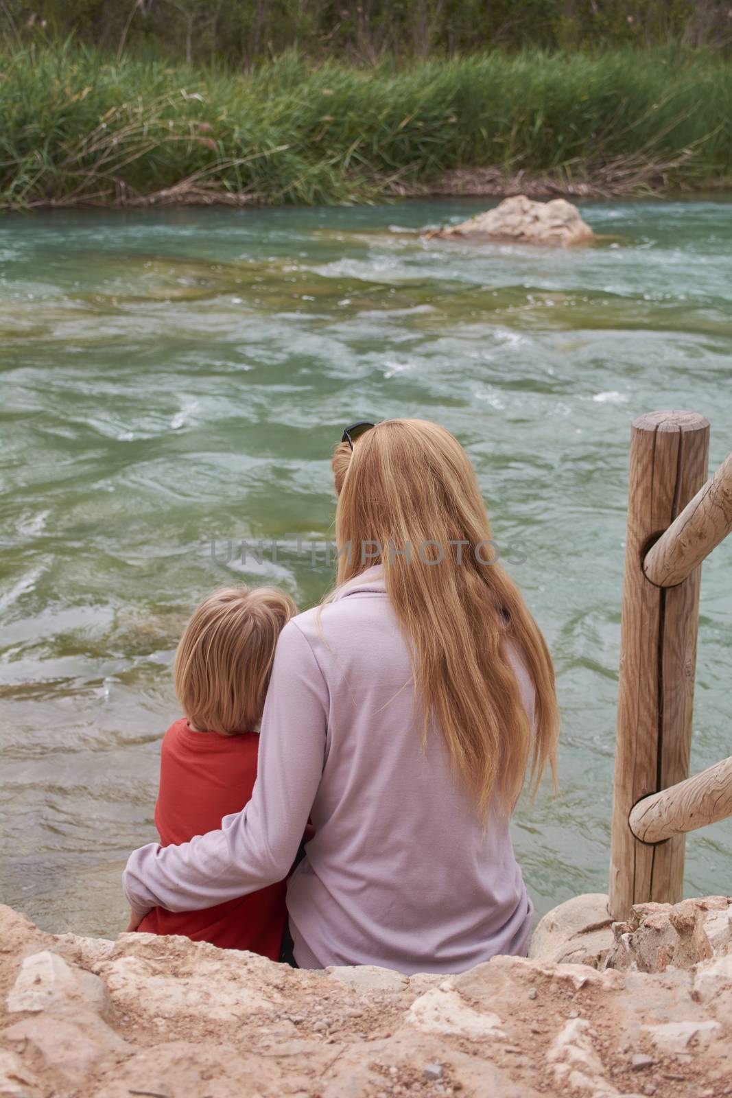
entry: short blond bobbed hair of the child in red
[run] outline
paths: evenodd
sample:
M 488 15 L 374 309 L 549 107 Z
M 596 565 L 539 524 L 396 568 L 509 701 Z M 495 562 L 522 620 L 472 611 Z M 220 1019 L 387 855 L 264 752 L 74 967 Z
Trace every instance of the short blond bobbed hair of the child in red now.
M 225 587 L 203 600 L 173 672 L 178 701 L 200 731 L 230 736 L 259 724 L 278 637 L 296 613 L 277 587 Z

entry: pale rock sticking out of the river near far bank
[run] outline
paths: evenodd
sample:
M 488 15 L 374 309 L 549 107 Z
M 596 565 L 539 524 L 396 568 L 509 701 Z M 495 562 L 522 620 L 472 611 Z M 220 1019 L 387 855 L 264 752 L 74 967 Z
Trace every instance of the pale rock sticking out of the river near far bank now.
M 441 228 L 430 236 L 444 239 L 549 244 L 555 247 L 592 244 L 595 239 L 592 228 L 582 220 L 579 211 L 571 202 L 565 199 L 532 202 L 526 194 L 504 199 L 494 210 L 487 210 L 459 225 Z

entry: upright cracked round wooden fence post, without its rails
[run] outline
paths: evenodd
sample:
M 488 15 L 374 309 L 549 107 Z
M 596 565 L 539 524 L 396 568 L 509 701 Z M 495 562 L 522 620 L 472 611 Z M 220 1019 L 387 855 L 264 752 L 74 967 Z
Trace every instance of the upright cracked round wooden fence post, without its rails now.
M 707 479 L 709 423 L 695 412 L 652 412 L 631 428 L 628 537 L 622 590 L 618 738 L 609 911 L 676 903 L 684 885 L 684 837 L 640 842 L 628 818 L 641 797 L 688 776 L 699 617 L 697 567 L 678 586 L 643 573 L 650 545 Z

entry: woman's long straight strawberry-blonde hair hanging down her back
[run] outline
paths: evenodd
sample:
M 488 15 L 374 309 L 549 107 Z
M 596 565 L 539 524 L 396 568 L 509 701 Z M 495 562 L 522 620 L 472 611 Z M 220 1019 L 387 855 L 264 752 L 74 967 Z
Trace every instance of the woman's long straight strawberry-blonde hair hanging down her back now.
M 423 742 L 433 716 L 455 780 L 481 818 L 494 792 L 498 810 L 510 813 L 529 760 L 537 784 L 548 762 L 556 781 L 554 671 L 517 585 L 500 564 L 486 563 L 491 553 L 481 542 L 489 541 L 491 526 L 468 455 L 437 424 L 387 419 L 352 451 L 339 444 L 333 470 L 336 541 L 340 550 L 350 542 L 338 558 L 338 585 L 374 563 L 363 559 L 362 546 L 376 542 L 424 707 Z M 533 681 L 533 728 L 508 660 L 509 639 Z

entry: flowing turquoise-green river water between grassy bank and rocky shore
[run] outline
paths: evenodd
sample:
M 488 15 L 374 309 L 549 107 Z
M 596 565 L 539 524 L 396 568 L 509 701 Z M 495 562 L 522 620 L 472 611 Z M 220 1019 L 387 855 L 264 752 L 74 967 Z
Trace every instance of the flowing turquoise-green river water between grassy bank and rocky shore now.
M 390 416 L 465 445 L 554 656 L 561 788 L 514 826 L 538 912 L 606 890 L 629 428 L 690 408 L 730 450 L 732 205 L 588 204 L 607 238 L 576 251 L 420 240 L 484 204 L 0 222 L 0 885 L 42 927 L 122 928 L 187 616 L 233 581 L 317 601 L 331 446 Z M 243 561 L 259 539 L 278 559 Z M 731 553 L 695 771 L 731 750 Z M 730 890 L 730 837 L 689 838 L 688 894 Z

